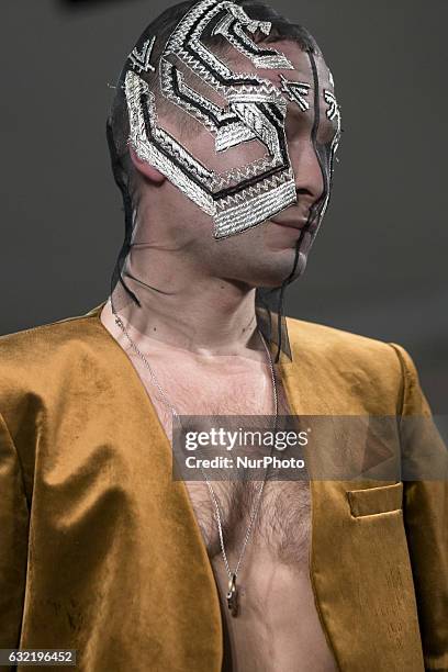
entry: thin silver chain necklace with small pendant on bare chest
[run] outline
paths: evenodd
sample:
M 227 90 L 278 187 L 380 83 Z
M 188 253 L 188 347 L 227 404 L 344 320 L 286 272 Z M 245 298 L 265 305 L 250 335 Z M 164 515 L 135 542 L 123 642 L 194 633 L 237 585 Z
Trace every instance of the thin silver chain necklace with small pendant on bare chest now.
M 115 317 L 115 324 L 121 328 L 121 331 L 123 332 L 124 336 L 127 338 L 132 349 L 135 351 L 135 354 L 139 357 L 139 359 L 142 359 L 143 363 L 145 365 L 145 367 L 147 368 L 147 370 L 149 371 L 149 376 L 150 379 L 154 383 L 154 385 L 157 388 L 158 392 L 160 393 L 165 404 L 170 408 L 171 411 L 171 415 L 172 417 L 176 417 L 179 425 L 182 426 L 181 422 L 180 422 L 180 416 L 179 413 L 177 412 L 177 410 L 175 408 L 175 406 L 171 404 L 171 402 L 168 399 L 168 395 L 166 394 L 165 390 L 163 389 L 163 387 L 160 385 L 154 370 L 153 367 L 150 366 L 150 363 L 148 362 L 147 358 L 145 357 L 145 355 L 142 352 L 142 350 L 138 348 L 138 346 L 134 343 L 134 340 L 131 338 L 127 328 L 125 327 L 123 320 L 120 317 L 120 315 L 117 313 L 115 313 L 115 311 L 113 310 L 112 306 L 112 313 Z M 260 335 L 262 345 L 265 346 L 265 350 L 267 352 L 268 356 L 268 361 L 269 361 L 269 368 L 270 368 L 270 373 L 271 373 L 271 381 L 272 381 L 272 396 L 273 396 L 273 428 L 276 429 L 277 427 L 277 421 L 278 421 L 278 393 L 277 393 L 277 381 L 276 381 L 276 373 L 275 373 L 275 369 L 273 369 L 273 363 L 272 363 L 272 358 L 269 351 L 269 348 L 266 344 L 266 340 L 261 334 L 261 332 L 258 329 L 258 334 Z M 272 452 L 272 450 L 271 450 Z M 227 587 L 227 593 L 226 593 L 226 600 L 227 600 L 227 606 L 231 611 L 232 616 L 237 616 L 238 615 L 238 611 L 239 611 L 239 604 L 238 604 L 238 590 L 237 590 L 237 585 L 236 585 L 236 578 L 238 574 L 238 570 L 243 560 L 243 556 L 245 553 L 246 550 L 246 546 L 247 542 L 249 540 L 250 537 L 250 533 L 253 530 L 254 527 L 254 522 L 257 517 L 258 514 L 258 509 L 260 507 L 260 503 L 261 503 L 261 495 L 262 495 L 262 491 L 265 489 L 265 483 L 266 483 L 266 479 L 268 475 L 268 471 L 269 468 L 267 468 L 265 470 L 265 477 L 264 480 L 261 481 L 261 485 L 258 488 L 258 496 L 257 496 L 257 501 L 255 503 L 253 513 L 250 515 L 249 518 L 249 525 L 247 527 L 247 531 L 246 531 L 246 536 L 244 538 L 243 541 L 243 546 L 242 546 L 242 550 L 239 552 L 239 557 L 236 563 L 236 567 L 234 569 L 234 571 L 231 570 L 231 567 L 228 564 L 228 560 L 227 560 L 227 555 L 225 552 L 225 545 L 224 545 L 224 535 L 223 535 L 223 526 L 222 526 L 222 520 L 221 520 L 221 511 L 220 511 L 220 505 L 217 503 L 217 499 L 215 495 L 215 492 L 213 490 L 213 486 L 209 480 L 208 474 L 205 473 L 204 469 L 201 467 L 202 473 L 204 475 L 205 482 L 208 484 L 209 488 L 209 492 L 210 492 L 210 496 L 212 500 L 212 503 L 215 507 L 215 518 L 216 518 L 216 524 L 217 524 L 217 531 L 220 535 L 220 545 L 221 545 L 221 551 L 222 551 L 222 556 L 223 556 L 223 560 L 224 560 L 224 564 L 225 564 L 225 569 L 227 571 L 227 575 L 228 575 L 228 587 Z

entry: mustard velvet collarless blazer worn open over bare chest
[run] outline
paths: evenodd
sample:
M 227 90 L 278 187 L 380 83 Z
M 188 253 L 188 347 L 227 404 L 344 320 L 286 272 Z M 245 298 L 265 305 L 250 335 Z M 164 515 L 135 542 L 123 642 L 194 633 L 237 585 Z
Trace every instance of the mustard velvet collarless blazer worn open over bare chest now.
M 0 648 L 77 649 L 80 672 L 220 672 L 191 501 L 102 306 L 0 338 Z M 401 346 L 288 328 L 292 413 L 430 418 Z M 310 575 L 343 672 L 448 670 L 446 478 L 311 481 Z

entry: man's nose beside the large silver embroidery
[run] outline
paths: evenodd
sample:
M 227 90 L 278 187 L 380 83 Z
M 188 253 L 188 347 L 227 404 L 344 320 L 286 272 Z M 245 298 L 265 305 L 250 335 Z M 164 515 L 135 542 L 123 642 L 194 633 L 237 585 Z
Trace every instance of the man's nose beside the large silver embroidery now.
M 311 138 L 290 146 L 289 154 L 299 199 L 301 194 L 307 197 L 312 205 L 322 198 L 325 182 Z

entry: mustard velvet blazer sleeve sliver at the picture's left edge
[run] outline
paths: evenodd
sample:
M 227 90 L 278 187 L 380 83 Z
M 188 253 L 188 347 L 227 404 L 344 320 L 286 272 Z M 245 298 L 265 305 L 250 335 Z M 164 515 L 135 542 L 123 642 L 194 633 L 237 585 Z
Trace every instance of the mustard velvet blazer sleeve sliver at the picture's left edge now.
M 0 414 L 0 649 L 19 648 L 27 530 L 29 506 L 19 456 Z

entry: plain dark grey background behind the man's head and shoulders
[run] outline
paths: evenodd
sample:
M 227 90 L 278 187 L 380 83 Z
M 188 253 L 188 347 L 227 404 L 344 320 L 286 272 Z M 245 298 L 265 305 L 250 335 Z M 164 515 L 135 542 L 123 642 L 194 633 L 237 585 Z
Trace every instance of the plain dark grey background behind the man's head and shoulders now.
M 161 0 L 2 4 L 0 333 L 108 295 L 123 235 L 104 122 Z M 329 211 L 289 314 L 402 344 L 447 413 L 446 0 L 277 0 L 309 27 L 345 130 Z

